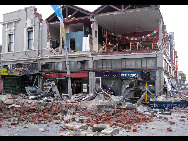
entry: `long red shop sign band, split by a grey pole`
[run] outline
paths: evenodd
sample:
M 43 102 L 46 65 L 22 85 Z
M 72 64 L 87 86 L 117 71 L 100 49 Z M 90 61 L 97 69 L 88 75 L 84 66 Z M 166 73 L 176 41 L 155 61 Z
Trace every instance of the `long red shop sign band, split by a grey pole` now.
M 44 78 L 65 78 L 66 75 L 67 75 L 67 73 L 46 73 L 46 74 L 44 74 Z M 87 72 L 70 73 L 70 75 L 73 78 L 88 77 Z

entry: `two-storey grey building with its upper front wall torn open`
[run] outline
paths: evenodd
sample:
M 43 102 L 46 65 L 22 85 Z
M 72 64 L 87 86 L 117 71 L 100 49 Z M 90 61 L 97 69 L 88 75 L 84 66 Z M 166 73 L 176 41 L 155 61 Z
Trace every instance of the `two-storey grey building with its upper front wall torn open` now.
M 24 92 L 34 82 L 42 88 L 53 79 L 61 94 L 68 93 L 65 47 L 73 94 L 103 88 L 119 96 L 131 85 L 145 89 L 143 70 L 151 72 L 148 86 L 155 94 L 169 78 L 176 79 L 177 53 L 159 5 L 101 5 L 93 12 L 64 5 L 62 15 L 66 44 L 55 13 L 42 20 L 35 7 L 28 7 L 3 15 L 5 92 Z

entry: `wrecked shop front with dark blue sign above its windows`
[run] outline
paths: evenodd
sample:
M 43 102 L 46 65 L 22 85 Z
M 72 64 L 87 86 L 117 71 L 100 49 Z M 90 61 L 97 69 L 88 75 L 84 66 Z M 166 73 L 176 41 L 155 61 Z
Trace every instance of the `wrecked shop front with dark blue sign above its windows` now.
M 127 88 L 134 86 L 145 89 L 145 82 L 141 79 L 140 73 L 141 71 L 95 72 L 95 88 L 106 89 L 115 96 L 123 95 Z M 148 89 L 155 93 L 155 71 L 151 71 Z

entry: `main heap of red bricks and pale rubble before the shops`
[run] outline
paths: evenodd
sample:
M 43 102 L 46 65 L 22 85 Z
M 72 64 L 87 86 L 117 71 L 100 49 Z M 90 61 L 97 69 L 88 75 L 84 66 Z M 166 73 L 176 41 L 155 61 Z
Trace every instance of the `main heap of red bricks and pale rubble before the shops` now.
M 87 97 L 74 96 L 68 100 L 29 100 L 23 94 L 9 98 L 13 103 L 6 104 L 0 100 L 0 128 L 16 125 L 60 124 L 60 131 L 86 131 L 86 134 L 100 132 L 105 135 L 119 133 L 119 128 L 131 129 L 137 123 L 150 122 L 152 115 L 143 115 L 134 110 L 116 109 L 114 97 L 103 94 L 91 94 Z M 82 100 L 83 99 L 83 100 Z M 116 101 L 119 99 L 117 98 Z M 101 105 L 106 105 L 102 106 Z M 62 126 L 63 123 L 63 126 Z M 46 131 L 41 131 L 46 132 Z M 135 132 L 135 130 L 134 130 Z M 74 133 L 78 134 L 78 133 Z M 64 133 L 62 133 L 64 135 Z M 67 135 L 67 134 L 66 134 Z M 72 133 L 71 133 L 72 135 Z

